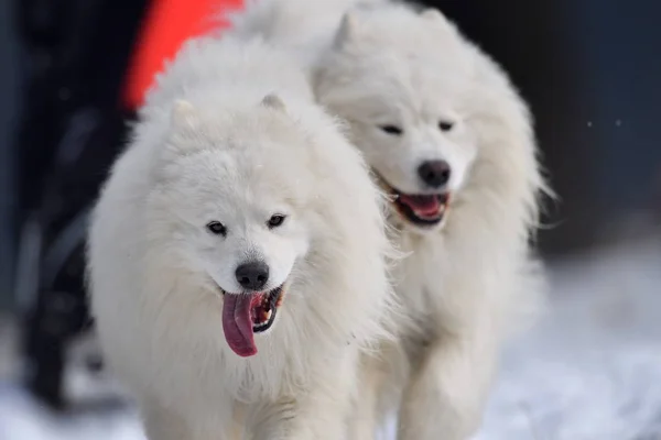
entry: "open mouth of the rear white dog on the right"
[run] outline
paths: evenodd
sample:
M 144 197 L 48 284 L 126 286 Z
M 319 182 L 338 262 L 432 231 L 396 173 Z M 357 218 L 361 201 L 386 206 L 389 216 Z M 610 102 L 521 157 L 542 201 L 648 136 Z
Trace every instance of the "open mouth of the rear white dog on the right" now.
M 405 194 L 379 176 L 382 186 L 391 196 L 397 212 L 412 224 L 432 228 L 440 224 L 449 207 L 449 193 Z

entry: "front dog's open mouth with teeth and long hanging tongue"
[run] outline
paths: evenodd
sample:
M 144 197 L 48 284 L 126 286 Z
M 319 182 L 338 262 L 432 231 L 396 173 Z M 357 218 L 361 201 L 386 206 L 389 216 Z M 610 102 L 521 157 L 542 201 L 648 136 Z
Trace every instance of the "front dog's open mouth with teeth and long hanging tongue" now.
M 223 289 L 223 331 L 229 348 L 241 358 L 257 354 L 254 333 L 263 333 L 275 322 L 284 285 L 268 292 L 229 294 Z

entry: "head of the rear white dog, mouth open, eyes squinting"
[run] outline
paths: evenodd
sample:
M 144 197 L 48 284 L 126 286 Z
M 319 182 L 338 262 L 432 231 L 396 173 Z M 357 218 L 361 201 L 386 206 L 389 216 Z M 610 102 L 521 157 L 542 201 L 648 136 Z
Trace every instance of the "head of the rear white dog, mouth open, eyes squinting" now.
M 392 206 L 418 231 L 441 228 L 477 156 L 465 47 L 435 10 L 357 10 L 314 76 L 321 102 L 348 122 Z

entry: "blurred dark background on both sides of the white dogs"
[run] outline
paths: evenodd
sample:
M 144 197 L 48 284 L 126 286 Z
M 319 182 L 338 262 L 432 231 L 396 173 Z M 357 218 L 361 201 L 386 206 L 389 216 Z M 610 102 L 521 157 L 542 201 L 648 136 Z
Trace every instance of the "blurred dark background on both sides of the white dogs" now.
M 28 382 L 56 406 L 63 346 L 89 323 L 85 216 L 133 118 L 122 87 L 155 3 L 0 0 L 0 315 L 20 322 Z M 661 2 L 426 3 L 530 102 L 560 195 L 540 233 L 546 258 L 659 228 Z

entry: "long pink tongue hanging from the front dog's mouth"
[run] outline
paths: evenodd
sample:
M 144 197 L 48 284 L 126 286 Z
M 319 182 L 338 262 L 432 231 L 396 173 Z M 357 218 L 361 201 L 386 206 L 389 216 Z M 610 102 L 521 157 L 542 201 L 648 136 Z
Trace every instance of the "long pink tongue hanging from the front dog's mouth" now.
M 250 309 L 252 295 L 225 295 L 223 305 L 223 331 L 229 348 L 241 358 L 257 354 Z

